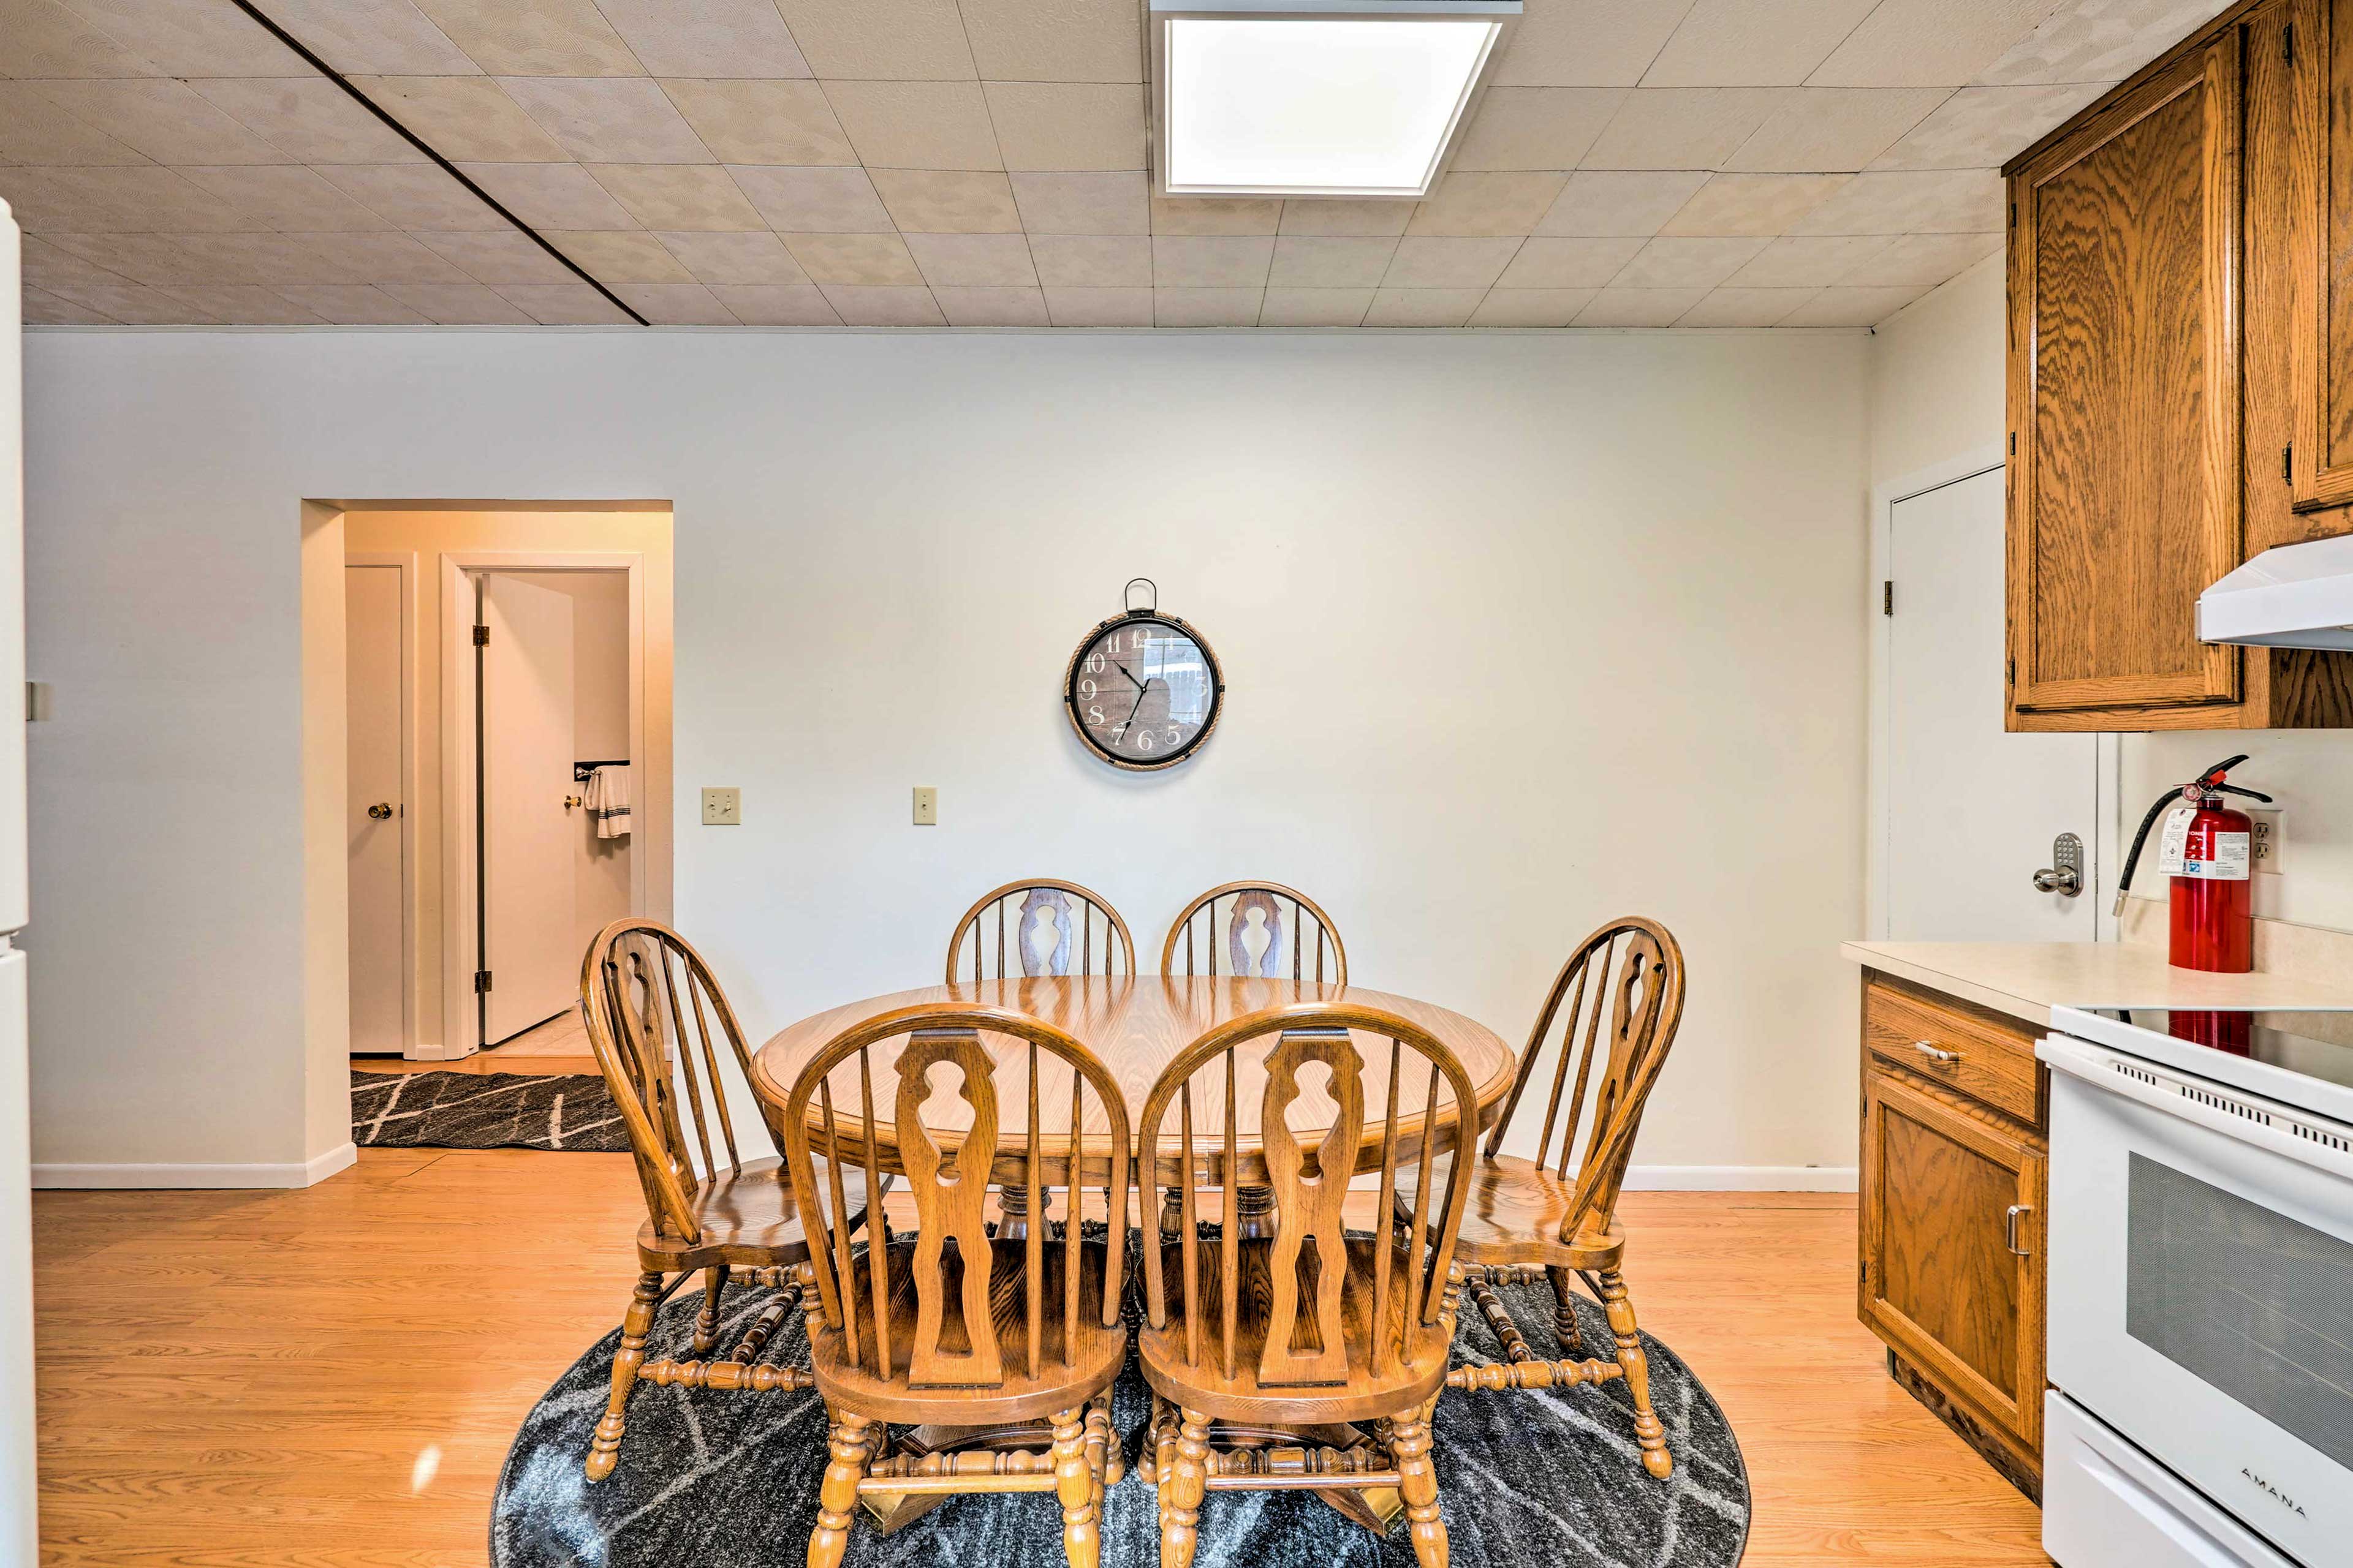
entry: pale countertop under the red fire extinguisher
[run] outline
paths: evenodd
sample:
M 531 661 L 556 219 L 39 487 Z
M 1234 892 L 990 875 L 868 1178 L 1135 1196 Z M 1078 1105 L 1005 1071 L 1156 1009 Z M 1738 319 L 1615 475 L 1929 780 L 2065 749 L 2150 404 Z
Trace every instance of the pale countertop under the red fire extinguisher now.
M 1840 952 L 2035 1025 L 2047 1025 L 2054 1006 L 2353 1009 L 2353 976 L 2214 976 L 2174 969 L 2148 943 L 1842 943 Z

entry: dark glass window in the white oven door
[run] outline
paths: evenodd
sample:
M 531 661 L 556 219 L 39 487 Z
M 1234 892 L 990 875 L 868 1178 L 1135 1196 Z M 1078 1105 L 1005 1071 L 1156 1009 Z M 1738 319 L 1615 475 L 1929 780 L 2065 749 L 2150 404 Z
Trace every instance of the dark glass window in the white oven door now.
M 2353 1246 L 2132 1157 L 2125 1333 L 2353 1467 Z

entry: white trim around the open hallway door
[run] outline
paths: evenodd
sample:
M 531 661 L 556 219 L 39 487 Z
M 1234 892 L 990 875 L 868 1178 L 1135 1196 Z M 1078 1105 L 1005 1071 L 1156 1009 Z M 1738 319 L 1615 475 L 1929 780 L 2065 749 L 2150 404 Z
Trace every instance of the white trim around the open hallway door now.
M 473 595 L 480 571 L 626 571 L 628 574 L 628 759 L 638 773 L 635 811 L 645 802 L 645 555 L 640 550 L 442 550 L 442 1060 L 480 1048 L 473 1009 L 475 875 L 473 856 Z M 652 856 L 628 858 L 628 907 L 649 910 Z

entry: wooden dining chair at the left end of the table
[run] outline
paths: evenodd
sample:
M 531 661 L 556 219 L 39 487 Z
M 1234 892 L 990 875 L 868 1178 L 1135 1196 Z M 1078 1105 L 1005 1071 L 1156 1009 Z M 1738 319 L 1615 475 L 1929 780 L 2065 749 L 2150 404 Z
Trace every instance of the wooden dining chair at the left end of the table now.
M 809 1387 L 809 1373 L 760 1361 L 776 1324 L 798 1305 L 793 1267 L 809 1255 L 809 1246 L 784 1161 L 744 1159 L 736 1152 L 713 1037 L 727 1041 L 746 1079 L 751 1053 L 744 1025 L 736 1023 L 727 994 L 720 992 L 701 954 L 682 936 L 649 919 L 619 919 L 605 926 L 581 961 L 581 1016 L 605 1086 L 628 1128 L 638 1182 L 645 1187 L 638 1288 L 621 1316 L 612 1396 L 588 1443 L 588 1479 L 602 1481 L 619 1462 L 624 1413 L 638 1382 L 758 1394 Z M 694 1124 L 692 1147 L 680 1103 Z M 713 1159 L 713 1121 L 725 1161 Z M 774 1124 L 769 1133 L 774 1135 Z M 866 1178 L 845 1173 L 842 1194 L 852 1222 L 864 1222 Z M 645 1340 L 654 1312 L 694 1272 L 704 1274 L 694 1359 L 647 1361 Z M 727 1356 L 711 1361 L 704 1356 L 715 1349 L 720 1293 L 729 1279 L 786 1291 L 753 1319 Z

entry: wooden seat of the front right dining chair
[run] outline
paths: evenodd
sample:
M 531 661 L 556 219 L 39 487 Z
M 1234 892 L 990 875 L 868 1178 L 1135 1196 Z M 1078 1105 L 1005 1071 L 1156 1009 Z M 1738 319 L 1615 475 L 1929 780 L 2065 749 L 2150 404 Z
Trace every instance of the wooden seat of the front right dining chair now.
M 1339 1298 L 1339 1321 L 1353 1368 L 1369 1368 L 1374 1361 L 1369 1340 L 1374 1246 L 1372 1239 L 1348 1241 L 1348 1281 Z M 1186 1361 L 1184 1248 L 1174 1241 L 1162 1244 L 1169 1321 L 1162 1328 L 1144 1324 L 1136 1335 L 1144 1378 L 1162 1399 L 1231 1422 L 1374 1420 L 1405 1413 L 1445 1382 L 1449 1335 L 1442 1324 L 1414 1324 L 1405 1335 L 1402 1359 L 1388 1359 L 1379 1375 L 1355 1375 L 1346 1385 L 1259 1382 L 1273 1293 L 1268 1274 L 1273 1241 L 1242 1241 L 1238 1258 L 1242 1279 L 1233 1326 L 1233 1378 L 1228 1378 L 1219 1248 L 1214 1241 L 1202 1241 L 1198 1248 L 1202 1324 L 1200 1363 L 1193 1366 Z M 1405 1321 L 1409 1265 L 1402 1248 L 1393 1251 L 1388 1262 L 1386 1338 L 1395 1342 L 1398 1324 Z M 1428 1288 L 1426 1274 L 1424 1288 Z M 1301 1314 L 1311 1314 L 1308 1300 L 1301 1300 Z

